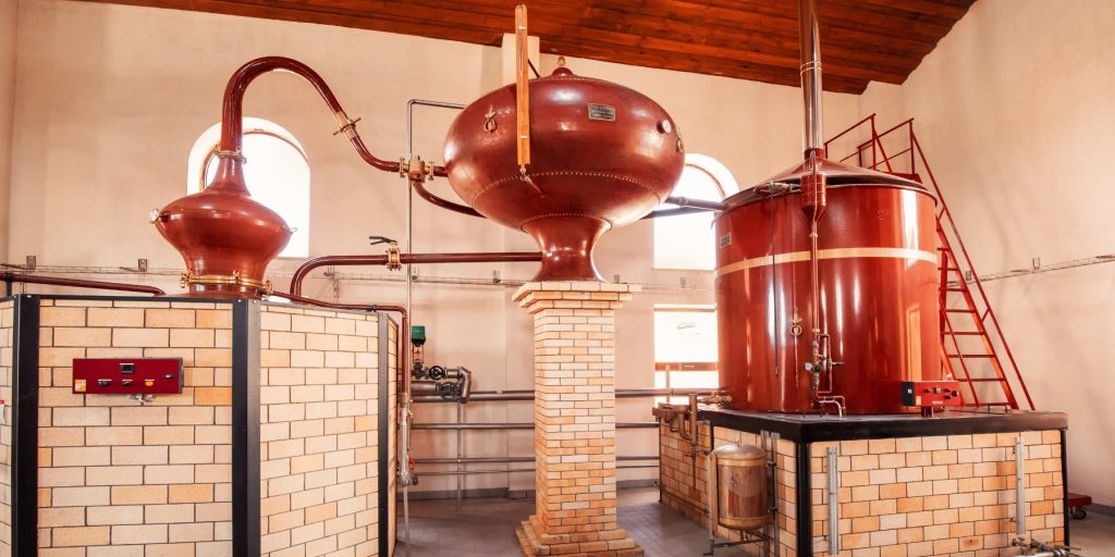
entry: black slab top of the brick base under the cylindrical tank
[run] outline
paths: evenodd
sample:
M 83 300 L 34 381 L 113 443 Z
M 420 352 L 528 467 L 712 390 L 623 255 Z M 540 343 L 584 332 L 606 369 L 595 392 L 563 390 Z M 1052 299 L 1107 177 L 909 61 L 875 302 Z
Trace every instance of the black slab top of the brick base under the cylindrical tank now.
M 721 428 L 758 433 L 774 431 L 795 442 L 852 441 L 857 439 L 892 439 L 899 437 L 963 436 L 973 433 L 1014 433 L 1019 431 L 1061 430 L 1068 428 L 1064 412 L 968 413 L 962 417 L 904 418 L 889 421 L 861 421 L 831 418 L 814 422 L 801 421 L 801 416 L 737 412 L 701 409 L 700 418 Z

